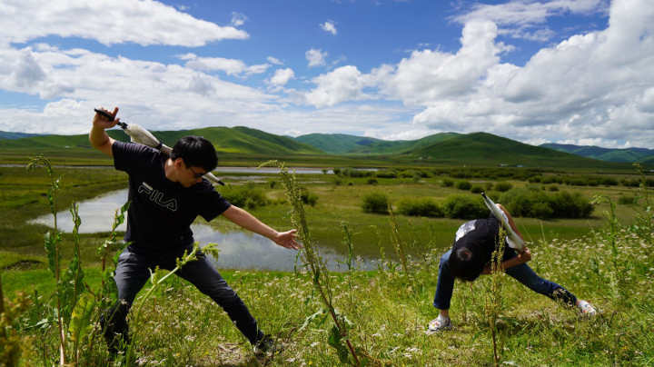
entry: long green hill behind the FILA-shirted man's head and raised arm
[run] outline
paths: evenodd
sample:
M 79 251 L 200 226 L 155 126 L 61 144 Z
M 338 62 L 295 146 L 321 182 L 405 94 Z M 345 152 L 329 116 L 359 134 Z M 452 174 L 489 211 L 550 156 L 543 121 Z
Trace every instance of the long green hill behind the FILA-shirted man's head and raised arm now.
M 127 142 L 129 136 L 120 129 L 107 133 L 116 140 Z M 324 154 L 319 149 L 298 143 L 290 138 L 263 133 L 246 127 L 206 127 L 203 129 L 183 131 L 151 132 L 164 144 L 173 146 L 179 138 L 186 135 L 201 135 L 216 147 L 218 153 L 232 154 Z M 0 141 L 3 149 L 47 149 L 47 148 L 91 148 L 88 134 L 81 135 L 47 135 L 18 140 Z

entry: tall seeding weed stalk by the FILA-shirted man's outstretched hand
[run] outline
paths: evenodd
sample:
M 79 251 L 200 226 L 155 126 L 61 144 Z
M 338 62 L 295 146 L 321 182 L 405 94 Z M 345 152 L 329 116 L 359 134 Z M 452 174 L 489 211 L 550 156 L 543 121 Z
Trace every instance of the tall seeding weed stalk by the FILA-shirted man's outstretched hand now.
M 300 186 L 297 184 L 295 173 L 289 174 L 286 165 L 277 162 L 276 160 L 268 161 L 260 165 L 259 168 L 263 166 L 276 166 L 280 169 L 282 186 L 286 192 L 286 197 L 288 198 L 289 203 L 291 203 L 291 211 L 289 212 L 291 214 L 291 222 L 293 227 L 298 231 L 297 238 L 300 240 L 300 243 L 302 243 L 302 262 L 311 272 L 313 287 L 319 294 L 320 300 L 324 306 L 324 308 L 319 312 L 307 317 L 302 324 L 302 328 L 308 326 L 322 314 L 326 313 L 331 315 L 334 325 L 327 342 L 336 350 L 341 362 L 348 362 L 348 352 L 350 352 L 352 355 L 352 361 L 358 366 L 360 365 L 359 358 L 357 357 L 356 352 L 354 352 L 354 347 L 352 347 L 352 342 L 350 342 L 348 337 L 348 330 L 352 328 L 353 324 L 345 317 L 345 315 L 338 312 L 333 305 L 333 288 L 327 263 L 318 252 L 318 247 L 313 243 L 311 231 L 309 230 L 309 225 L 306 221 L 304 203 L 302 203 L 302 192 Z M 345 342 L 347 348 L 343 346 L 342 342 Z

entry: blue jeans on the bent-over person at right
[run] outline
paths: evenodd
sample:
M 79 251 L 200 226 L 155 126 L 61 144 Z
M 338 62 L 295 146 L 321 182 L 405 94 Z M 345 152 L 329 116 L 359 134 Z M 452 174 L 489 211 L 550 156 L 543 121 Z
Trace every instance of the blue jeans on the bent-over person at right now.
M 439 279 L 436 283 L 436 295 L 434 296 L 434 307 L 439 310 L 450 310 L 451 294 L 454 291 L 454 277 L 450 273 L 450 253 L 451 250 L 441 256 L 441 266 L 439 267 Z M 504 261 L 518 256 L 515 252 L 504 253 Z M 577 297 L 568 292 L 565 288 L 557 283 L 550 282 L 540 278 L 537 273 L 527 265 L 512 266 L 506 269 L 504 273 L 509 274 L 518 282 L 524 284 L 531 291 L 550 297 L 554 301 L 563 301 L 570 305 L 577 303 Z

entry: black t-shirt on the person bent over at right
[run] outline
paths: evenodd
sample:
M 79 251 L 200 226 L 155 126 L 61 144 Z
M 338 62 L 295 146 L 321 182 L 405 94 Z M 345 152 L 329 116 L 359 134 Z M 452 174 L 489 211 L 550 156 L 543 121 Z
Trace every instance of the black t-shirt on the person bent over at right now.
M 499 241 L 504 246 L 504 260 L 513 253 L 504 239 L 500 240 L 500 221 L 490 213 L 487 219 L 477 219 L 464 223 L 459 227 L 452 244 L 452 251 L 463 247 L 466 243 L 478 243 L 484 255 L 484 263 L 490 263 L 492 253 Z

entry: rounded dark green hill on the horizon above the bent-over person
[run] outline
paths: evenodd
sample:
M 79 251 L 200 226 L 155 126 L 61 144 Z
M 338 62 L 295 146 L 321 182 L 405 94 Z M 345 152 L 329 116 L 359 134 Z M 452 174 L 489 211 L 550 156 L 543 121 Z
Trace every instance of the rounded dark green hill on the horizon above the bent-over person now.
M 459 135 L 442 142 L 408 152 L 413 156 L 437 162 L 465 164 L 507 164 L 549 167 L 622 167 L 549 148 L 522 144 L 487 133 Z

